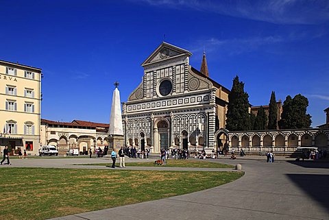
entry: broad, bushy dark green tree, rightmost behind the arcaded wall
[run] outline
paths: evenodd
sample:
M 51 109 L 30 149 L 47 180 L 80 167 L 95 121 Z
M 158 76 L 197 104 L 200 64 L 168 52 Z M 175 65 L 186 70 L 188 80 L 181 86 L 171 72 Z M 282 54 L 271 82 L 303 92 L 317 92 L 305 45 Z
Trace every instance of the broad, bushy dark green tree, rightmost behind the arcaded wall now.
M 312 123 L 310 114 L 306 114 L 308 99 L 303 95 L 288 95 L 283 103 L 283 112 L 279 121 L 280 129 L 308 128 Z

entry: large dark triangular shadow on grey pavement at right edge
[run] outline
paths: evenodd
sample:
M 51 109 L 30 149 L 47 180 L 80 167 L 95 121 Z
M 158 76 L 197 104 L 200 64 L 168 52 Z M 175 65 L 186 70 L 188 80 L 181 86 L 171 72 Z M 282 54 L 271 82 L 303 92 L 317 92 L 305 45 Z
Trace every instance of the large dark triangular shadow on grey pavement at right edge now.
M 329 213 L 329 175 L 287 174 L 287 176 Z

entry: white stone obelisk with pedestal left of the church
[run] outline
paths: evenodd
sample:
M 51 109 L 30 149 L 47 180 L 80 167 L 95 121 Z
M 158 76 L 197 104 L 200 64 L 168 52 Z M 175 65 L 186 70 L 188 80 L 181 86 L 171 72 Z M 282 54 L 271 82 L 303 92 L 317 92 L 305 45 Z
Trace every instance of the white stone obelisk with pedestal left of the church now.
M 119 82 L 115 82 L 114 86 L 115 89 L 112 96 L 110 126 L 108 127 L 108 147 L 110 150 L 117 150 L 120 149 L 120 147 L 123 147 L 121 102 L 118 90 Z

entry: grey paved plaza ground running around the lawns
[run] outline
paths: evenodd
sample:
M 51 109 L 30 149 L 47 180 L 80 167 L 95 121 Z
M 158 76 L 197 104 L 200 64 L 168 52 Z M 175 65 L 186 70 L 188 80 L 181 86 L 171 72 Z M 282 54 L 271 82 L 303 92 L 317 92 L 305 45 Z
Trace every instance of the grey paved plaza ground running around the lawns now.
M 329 219 L 328 162 L 295 162 L 281 158 L 270 164 L 260 158 L 253 159 L 210 160 L 242 164 L 245 175 L 229 184 L 187 195 L 56 219 Z M 72 165 L 90 162 L 109 162 L 109 160 L 104 158 L 12 160 L 12 167 L 90 168 Z M 129 169 L 199 170 L 174 167 L 130 167 Z M 230 169 L 201 170 L 230 171 Z

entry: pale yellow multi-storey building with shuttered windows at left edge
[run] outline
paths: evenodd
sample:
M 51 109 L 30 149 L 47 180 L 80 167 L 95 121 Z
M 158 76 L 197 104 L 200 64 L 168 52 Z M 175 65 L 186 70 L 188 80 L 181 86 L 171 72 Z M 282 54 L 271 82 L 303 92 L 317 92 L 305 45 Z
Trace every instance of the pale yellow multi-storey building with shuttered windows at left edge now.
M 40 147 L 41 69 L 0 60 L 0 150 Z

